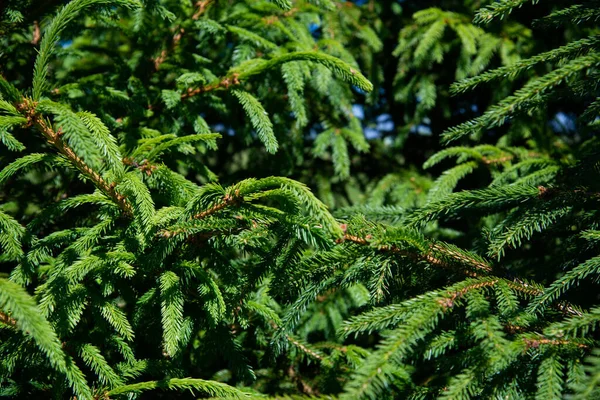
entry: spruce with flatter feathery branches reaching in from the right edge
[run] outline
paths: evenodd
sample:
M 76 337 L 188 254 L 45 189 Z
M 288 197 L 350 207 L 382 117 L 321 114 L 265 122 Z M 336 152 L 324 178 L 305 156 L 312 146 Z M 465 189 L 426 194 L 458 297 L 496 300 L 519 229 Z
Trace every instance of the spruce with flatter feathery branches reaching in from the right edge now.
M 336 248 L 333 267 L 304 261 L 319 272 L 283 318 L 290 331 L 323 292 L 356 284 L 370 291 L 371 305 L 338 330 L 342 343 L 376 343 L 340 398 L 598 396 L 598 302 L 591 293 L 599 265 L 600 12 L 594 2 L 549 3 L 550 14 L 533 28 L 539 34 L 559 29 L 565 43 L 452 85 L 455 95 L 499 82 L 517 87 L 444 132 L 448 146 L 424 167 L 457 162 L 431 184 L 413 175 L 413 189 L 429 188 L 422 204 L 395 194 L 340 210 L 346 231 L 339 242 L 350 259 L 334 256 Z M 521 7 L 536 6 L 505 0 L 480 8 L 475 43 Z M 405 28 L 416 30 L 412 47 L 398 48 L 401 62 L 442 62 L 442 25 L 454 20 L 460 19 L 439 9 L 415 14 L 415 24 Z M 458 33 L 463 51 L 464 34 Z M 565 105 L 572 117 L 557 113 Z M 558 118 L 575 127 L 557 126 Z M 398 174 L 381 187 L 406 193 L 406 181 Z M 471 188 L 457 190 L 464 181 Z

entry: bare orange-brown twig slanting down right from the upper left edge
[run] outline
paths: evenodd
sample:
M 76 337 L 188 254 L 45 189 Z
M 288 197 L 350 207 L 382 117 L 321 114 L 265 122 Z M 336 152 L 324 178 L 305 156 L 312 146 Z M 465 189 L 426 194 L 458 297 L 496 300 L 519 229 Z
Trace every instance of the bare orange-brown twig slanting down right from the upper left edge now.
M 119 205 L 121 210 L 126 215 L 132 215 L 132 207 L 122 194 L 115 190 L 115 183 L 108 183 L 96 171 L 94 171 L 81 157 L 79 157 L 71 147 L 69 147 L 61 138 L 61 132 L 56 132 L 46 122 L 44 117 L 36 112 L 36 103 L 28 99 L 23 99 L 23 102 L 18 105 L 18 109 L 25 113 L 27 119 L 32 123 L 44 136 L 49 144 L 53 145 L 63 156 L 65 156 L 83 175 L 88 177 L 94 185 L 105 193 L 108 197 Z

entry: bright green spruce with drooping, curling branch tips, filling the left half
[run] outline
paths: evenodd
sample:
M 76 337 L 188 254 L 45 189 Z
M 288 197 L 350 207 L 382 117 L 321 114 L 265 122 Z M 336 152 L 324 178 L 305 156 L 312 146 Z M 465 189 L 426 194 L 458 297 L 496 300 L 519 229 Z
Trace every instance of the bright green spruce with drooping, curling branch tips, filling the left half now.
M 290 157 L 316 121 L 347 173 L 348 147 L 367 147 L 352 90 L 372 85 L 344 41 L 372 46 L 370 28 L 328 1 L 60 3 L 2 14 L 2 393 L 304 384 L 294 369 L 317 352 L 294 335 L 285 357 L 270 350 L 292 275 L 281 253 L 331 248 L 342 230 L 298 181 L 219 183 L 211 153 Z

